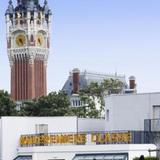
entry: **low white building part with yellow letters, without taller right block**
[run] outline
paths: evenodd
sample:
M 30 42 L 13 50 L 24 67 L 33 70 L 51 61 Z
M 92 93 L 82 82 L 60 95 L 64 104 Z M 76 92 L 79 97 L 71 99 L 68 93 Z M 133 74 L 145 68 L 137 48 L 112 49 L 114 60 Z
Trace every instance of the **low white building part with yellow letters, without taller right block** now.
M 131 160 L 156 149 L 153 144 L 132 144 L 130 131 L 111 133 L 104 128 L 101 119 L 1 117 L 0 159 Z

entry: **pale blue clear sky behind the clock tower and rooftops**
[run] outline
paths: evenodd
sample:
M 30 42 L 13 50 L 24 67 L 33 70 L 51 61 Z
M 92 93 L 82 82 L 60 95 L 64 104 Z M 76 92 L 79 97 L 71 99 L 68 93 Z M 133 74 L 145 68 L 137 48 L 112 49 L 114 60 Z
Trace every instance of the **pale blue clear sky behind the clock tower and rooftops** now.
M 13 0 L 16 4 L 16 0 Z M 43 0 L 40 1 L 43 4 Z M 52 10 L 48 92 L 73 68 L 136 77 L 138 92 L 160 91 L 160 0 L 48 0 Z M 0 0 L 0 89 L 10 92 L 5 10 Z

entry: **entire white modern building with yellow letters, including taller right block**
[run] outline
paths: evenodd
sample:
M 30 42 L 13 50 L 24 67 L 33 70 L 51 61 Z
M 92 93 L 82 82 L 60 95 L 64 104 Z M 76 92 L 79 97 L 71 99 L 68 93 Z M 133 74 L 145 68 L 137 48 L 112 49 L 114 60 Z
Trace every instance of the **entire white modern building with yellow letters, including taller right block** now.
M 151 123 L 155 118 L 160 118 L 160 93 L 108 96 L 105 120 L 1 117 L 0 160 L 132 160 L 140 155 L 155 156 L 149 152 L 156 150 L 152 131 L 160 130 L 159 123 Z M 148 128 L 144 127 L 146 119 Z

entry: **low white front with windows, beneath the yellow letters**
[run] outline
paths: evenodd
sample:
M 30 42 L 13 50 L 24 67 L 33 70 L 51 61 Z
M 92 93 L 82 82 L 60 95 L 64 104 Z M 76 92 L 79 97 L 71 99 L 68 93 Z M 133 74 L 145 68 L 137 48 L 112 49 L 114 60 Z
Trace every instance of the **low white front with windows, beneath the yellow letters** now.
M 140 155 L 155 156 L 155 153 L 149 154 L 149 149 L 156 147 L 152 144 L 41 146 L 19 148 L 16 160 L 27 155 L 27 160 L 133 160 Z

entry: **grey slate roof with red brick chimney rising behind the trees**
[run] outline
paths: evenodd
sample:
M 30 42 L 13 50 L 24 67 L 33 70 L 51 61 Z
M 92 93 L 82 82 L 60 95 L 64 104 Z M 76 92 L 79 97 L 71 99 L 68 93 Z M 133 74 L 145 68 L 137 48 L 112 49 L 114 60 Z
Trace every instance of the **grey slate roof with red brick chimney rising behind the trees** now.
M 112 75 L 89 71 L 81 72 L 78 68 L 74 68 L 72 72 L 69 73 L 68 79 L 62 90 L 71 96 L 72 94 L 77 94 L 79 90 L 86 88 L 90 83 L 97 82 L 98 84 L 101 84 L 105 79 L 118 79 L 123 82 L 124 89 L 128 88 L 125 75 Z

